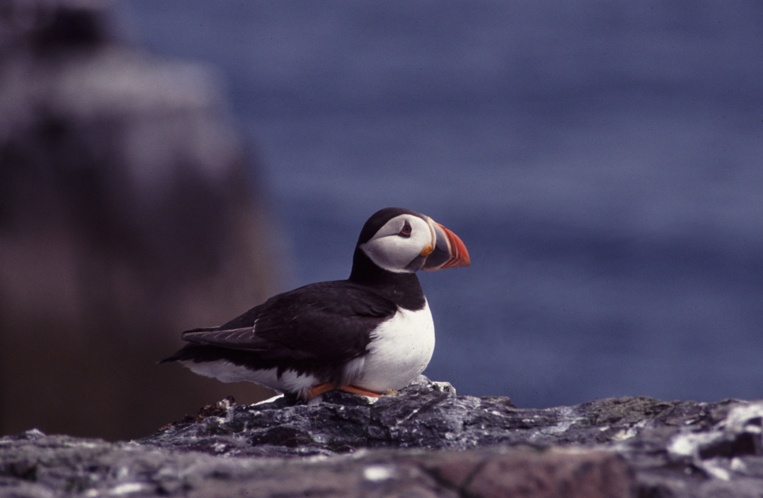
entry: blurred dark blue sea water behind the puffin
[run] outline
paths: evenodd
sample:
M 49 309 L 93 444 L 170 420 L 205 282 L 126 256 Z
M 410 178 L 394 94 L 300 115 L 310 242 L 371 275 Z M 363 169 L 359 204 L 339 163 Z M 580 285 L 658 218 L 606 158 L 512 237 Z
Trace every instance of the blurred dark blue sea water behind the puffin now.
M 427 374 L 528 406 L 763 396 L 763 5 L 130 0 L 219 71 L 291 287 L 400 205 L 473 266 L 422 276 Z

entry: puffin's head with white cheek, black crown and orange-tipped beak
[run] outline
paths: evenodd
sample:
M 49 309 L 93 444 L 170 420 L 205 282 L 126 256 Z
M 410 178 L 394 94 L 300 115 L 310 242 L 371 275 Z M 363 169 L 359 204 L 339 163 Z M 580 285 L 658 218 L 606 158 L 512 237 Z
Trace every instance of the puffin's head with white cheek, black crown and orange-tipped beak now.
M 429 216 L 403 208 L 374 213 L 360 232 L 358 249 L 376 266 L 394 273 L 469 265 L 456 234 Z

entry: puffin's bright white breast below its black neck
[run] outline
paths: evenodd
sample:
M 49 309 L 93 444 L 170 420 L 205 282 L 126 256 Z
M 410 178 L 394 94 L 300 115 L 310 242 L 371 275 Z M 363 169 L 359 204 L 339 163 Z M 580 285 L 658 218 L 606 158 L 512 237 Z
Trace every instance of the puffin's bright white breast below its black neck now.
M 402 389 L 427 367 L 434 342 L 429 303 L 418 311 L 399 308 L 374 331 L 362 374 L 354 384 L 375 392 Z

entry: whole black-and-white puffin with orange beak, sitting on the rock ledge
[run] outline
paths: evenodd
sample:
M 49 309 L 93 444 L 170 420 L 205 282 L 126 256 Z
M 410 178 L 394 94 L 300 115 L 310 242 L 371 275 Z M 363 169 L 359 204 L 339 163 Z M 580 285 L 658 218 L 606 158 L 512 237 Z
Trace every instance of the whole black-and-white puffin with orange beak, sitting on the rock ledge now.
M 434 352 L 416 272 L 469 264 L 466 246 L 445 226 L 410 209 L 381 209 L 360 231 L 349 278 L 305 285 L 218 327 L 185 331 L 187 344 L 160 363 L 304 400 L 331 390 L 391 394 Z

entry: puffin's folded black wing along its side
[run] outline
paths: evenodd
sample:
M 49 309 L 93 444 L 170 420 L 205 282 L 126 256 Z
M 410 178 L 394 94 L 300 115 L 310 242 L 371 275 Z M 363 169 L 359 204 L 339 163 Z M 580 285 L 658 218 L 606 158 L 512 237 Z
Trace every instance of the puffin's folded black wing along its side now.
M 347 281 L 274 296 L 214 329 L 183 333 L 191 344 L 250 353 L 265 362 L 343 363 L 365 354 L 370 331 L 397 306 Z M 254 359 L 254 358 L 252 358 Z

